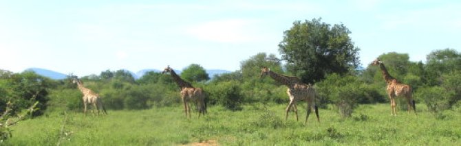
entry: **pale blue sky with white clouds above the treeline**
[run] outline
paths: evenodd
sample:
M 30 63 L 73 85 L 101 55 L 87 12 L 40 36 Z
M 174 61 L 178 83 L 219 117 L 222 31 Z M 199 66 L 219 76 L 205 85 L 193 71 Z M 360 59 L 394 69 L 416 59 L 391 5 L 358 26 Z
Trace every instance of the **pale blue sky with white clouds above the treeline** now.
M 0 0 L 0 69 L 235 71 L 259 52 L 279 56 L 283 31 L 319 17 L 350 29 L 363 66 L 392 51 L 425 62 L 433 50 L 461 49 L 458 1 Z

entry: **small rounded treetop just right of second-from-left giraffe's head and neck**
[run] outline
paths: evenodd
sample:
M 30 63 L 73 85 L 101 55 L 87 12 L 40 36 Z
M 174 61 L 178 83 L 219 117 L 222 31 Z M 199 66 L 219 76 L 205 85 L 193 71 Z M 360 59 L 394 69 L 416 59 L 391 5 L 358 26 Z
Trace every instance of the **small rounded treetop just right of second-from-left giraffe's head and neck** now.
M 188 82 L 202 82 L 210 80 L 208 73 L 206 73 L 205 69 L 199 64 L 191 64 L 187 66 L 186 69 L 182 71 L 181 77 L 183 80 Z

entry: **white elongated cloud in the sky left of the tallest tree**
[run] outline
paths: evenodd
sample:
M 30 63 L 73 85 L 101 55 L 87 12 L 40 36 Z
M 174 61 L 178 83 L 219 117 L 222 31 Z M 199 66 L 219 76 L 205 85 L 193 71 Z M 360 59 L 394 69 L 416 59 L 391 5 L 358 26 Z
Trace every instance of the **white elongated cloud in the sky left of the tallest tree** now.
M 186 32 L 200 40 L 213 42 L 249 42 L 256 40 L 252 36 L 254 21 L 226 19 L 209 21 L 189 27 Z

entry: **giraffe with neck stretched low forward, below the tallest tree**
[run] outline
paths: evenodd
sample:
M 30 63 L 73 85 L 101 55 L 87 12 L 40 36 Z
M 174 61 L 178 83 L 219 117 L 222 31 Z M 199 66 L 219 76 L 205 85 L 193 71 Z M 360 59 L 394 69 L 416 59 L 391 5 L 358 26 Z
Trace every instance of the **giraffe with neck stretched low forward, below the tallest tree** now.
M 305 100 L 308 103 L 308 112 L 305 115 L 304 123 L 308 123 L 308 117 L 312 109 L 315 110 L 317 121 L 320 122 L 319 108 L 317 108 L 317 106 L 315 105 L 315 97 L 317 97 L 317 93 L 315 89 L 312 87 L 312 85 L 303 84 L 298 77 L 279 75 L 277 73 L 274 73 L 273 71 L 270 71 L 269 68 L 264 67 L 261 69 L 260 77 L 264 77 L 266 75 L 269 75 L 275 81 L 288 86 L 286 93 L 288 94 L 288 97 L 290 97 L 290 103 L 285 109 L 285 121 L 288 119 L 288 112 L 290 111 L 290 108 L 293 108 L 294 113 L 296 114 L 296 120 L 298 121 L 298 109 L 296 107 L 296 102 Z

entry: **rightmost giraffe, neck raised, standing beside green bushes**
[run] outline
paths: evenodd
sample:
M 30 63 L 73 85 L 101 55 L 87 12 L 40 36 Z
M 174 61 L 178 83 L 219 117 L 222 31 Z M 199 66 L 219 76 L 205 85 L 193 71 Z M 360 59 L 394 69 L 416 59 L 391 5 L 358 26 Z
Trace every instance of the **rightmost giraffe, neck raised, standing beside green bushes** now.
M 413 108 L 415 115 L 416 115 L 416 106 L 415 106 L 415 101 L 413 97 L 411 97 L 411 87 L 407 84 L 403 84 L 396 80 L 394 77 L 389 75 L 387 72 L 386 66 L 384 66 L 383 62 L 379 60 L 379 58 L 376 58 L 372 62 L 371 65 L 374 66 L 379 66 L 379 69 L 381 70 L 381 73 L 383 73 L 384 80 L 386 81 L 387 84 L 387 95 L 389 96 L 389 100 L 391 102 L 391 115 L 396 116 L 397 111 L 396 111 L 396 97 L 404 96 L 407 99 L 408 102 L 408 114 L 411 112 L 411 108 Z

